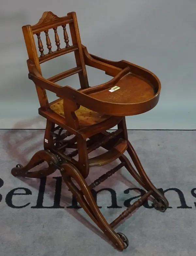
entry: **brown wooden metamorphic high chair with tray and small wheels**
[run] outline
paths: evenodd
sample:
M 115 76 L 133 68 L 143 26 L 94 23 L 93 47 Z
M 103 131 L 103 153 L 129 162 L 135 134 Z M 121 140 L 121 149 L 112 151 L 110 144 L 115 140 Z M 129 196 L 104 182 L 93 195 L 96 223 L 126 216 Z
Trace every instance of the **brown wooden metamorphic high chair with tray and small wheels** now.
M 72 46 L 69 45 L 67 24 L 70 27 Z M 65 41 L 63 47 L 57 34 L 57 28 L 60 27 Z M 128 140 L 125 122 L 125 116 L 138 115 L 156 106 L 161 84 L 152 72 L 140 66 L 124 60 L 109 61 L 90 54 L 87 48 L 81 44 L 75 12 L 70 12 L 64 17 L 57 17 L 52 12 L 46 11 L 36 25 L 23 26 L 22 29 L 29 58 L 27 60 L 28 78 L 36 86 L 40 102 L 39 114 L 47 121 L 43 139 L 44 149 L 35 153 L 27 165 L 18 164 L 11 170 L 11 173 L 14 176 L 41 178 L 58 169 L 80 206 L 114 246 L 123 251 L 129 241 L 123 233 L 114 231 L 114 227 L 120 221 L 140 207 L 149 196 L 154 197 L 155 209 L 163 212 L 169 206 L 167 199 L 155 188 L 145 173 Z M 49 29 L 54 30 L 56 42 L 54 50 L 52 50 L 48 35 Z M 47 53 L 44 53 L 40 37 L 42 32 L 43 35 L 45 33 Z M 38 57 L 34 35 L 38 39 L 40 57 Z M 43 78 L 40 64 L 70 52 L 74 52 L 75 55 L 75 68 L 47 79 Z M 109 82 L 90 87 L 86 65 L 103 70 L 113 78 Z M 60 86 L 56 83 L 74 74 L 79 76 L 80 89 L 76 90 L 70 86 Z M 58 99 L 48 102 L 46 90 L 55 93 Z M 108 132 L 116 125 L 117 129 L 114 132 Z M 90 158 L 89 153 L 99 147 L 105 149 L 104 153 Z M 67 149 L 74 150 L 68 154 Z M 124 155 L 125 151 L 132 159 L 135 168 Z M 78 160 L 74 159 L 76 155 L 78 155 Z M 90 173 L 90 167 L 101 167 L 116 159 L 120 160 L 120 164 L 93 183 L 87 184 L 85 179 Z M 43 162 L 47 162 L 47 168 L 30 171 Z M 127 169 L 146 190 L 146 193 L 114 221 L 107 223 L 91 190 L 122 167 Z

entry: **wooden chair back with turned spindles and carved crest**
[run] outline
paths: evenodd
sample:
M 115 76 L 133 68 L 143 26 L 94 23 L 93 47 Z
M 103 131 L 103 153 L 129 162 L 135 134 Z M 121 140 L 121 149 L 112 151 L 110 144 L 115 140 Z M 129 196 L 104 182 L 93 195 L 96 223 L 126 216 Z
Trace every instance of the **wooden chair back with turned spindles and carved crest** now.
M 68 24 L 71 33 L 72 44 L 70 46 L 70 41 L 66 29 L 66 25 Z M 64 46 L 60 43 L 58 31 L 62 29 L 64 35 Z M 60 74 L 57 74 L 47 80 L 51 82 L 57 82 L 61 79 L 69 77 L 74 74 L 78 74 L 80 86 L 82 89 L 86 89 L 89 87 L 87 71 L 84 61 L 84 55 L 82 50 L 82 44 L 80 40 L 79 28 L 77 23 L 77 17 L 75 12 L 67 13 L 67 16 L 58 17 L 51 11 L 45 11 L 39 20 L 39 22 L 33 26 L 26 25 L 22 27 L 24 40 L 26 44 L 26 49 L 28 53 L 29 60 L 36 66 L 39 73 L 41 73 L 41 65 L 42 63 L 54 59 L 58 56 L 74 52 L 76 67 L 66 70 Z M 54 38 L 56 43 L 56 49 L 53 50 L 54 47 L 51 45 L 50 37 L 48 35 L 48 31 L 52 29 L 54 31 Z M 45 44 L 47 49 L 43 46 L 41 41 L 41 33 L 45 34 Z M 34 40 L 34 35 L 37 36 L 37 47 L 40 51 L 40 56 L 38 56 L 38 51 L 36 48 L 36 43 Z M 28 63 L 28 62 L 27 62 Z M 29 67 L 29 66 L 28 66 Z M 29 67 L 30 68 L 30 67 Z M 29 70 L 30 72 L 30 70 Z M 36 85 L 38 98 L 40 101 L 41 107 L 46 107 L 48 105 L 48 99 L 46 95 L 46 91 L 43 88 L 40 88 Z

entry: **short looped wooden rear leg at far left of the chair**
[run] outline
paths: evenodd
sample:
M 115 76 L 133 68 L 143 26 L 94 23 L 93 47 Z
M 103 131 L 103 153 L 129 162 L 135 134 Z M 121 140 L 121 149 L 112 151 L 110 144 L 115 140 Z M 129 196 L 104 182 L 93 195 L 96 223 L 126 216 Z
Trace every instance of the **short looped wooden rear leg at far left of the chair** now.
M 48 163 L 48 168 L 44 168 L 39 171 L 29 172 L 29 170 L 43 163 L 44 161 Z M 20 164 L 17 164 L 16 167 L 11 170 L 11 174 L 13 176 L 41 178 L 48 176 L 56 171 L 57 168 L 53 164 L 58 164 L 57 157 L 48 150 L 40 150 L 33 155 L 27 165 L 22 166 Z

